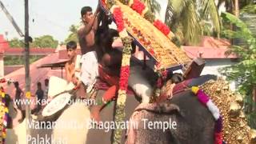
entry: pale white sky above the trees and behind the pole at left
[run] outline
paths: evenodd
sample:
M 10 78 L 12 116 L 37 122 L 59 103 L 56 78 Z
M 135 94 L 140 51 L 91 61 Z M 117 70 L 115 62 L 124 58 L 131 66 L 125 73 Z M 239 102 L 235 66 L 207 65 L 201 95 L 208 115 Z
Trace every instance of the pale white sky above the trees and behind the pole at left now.
M 0 1 L 6 6 L 24 34 L 24 0 Z M 167 0 L 158 2 L 162 8 L 158 18 L 163 20 Z M 78 25 L 81 21 L 82 6 L 91 6 L 95 10 L 97 5 L 98 0 L 29 0 L 30 36 L 35 38 L 50 34 L 59 42 L 63 42 L 69 35 L 69 27 L 73 24 Z M 21 38 L 1 9 L 0 34 L 4 34 L 7 39 Z

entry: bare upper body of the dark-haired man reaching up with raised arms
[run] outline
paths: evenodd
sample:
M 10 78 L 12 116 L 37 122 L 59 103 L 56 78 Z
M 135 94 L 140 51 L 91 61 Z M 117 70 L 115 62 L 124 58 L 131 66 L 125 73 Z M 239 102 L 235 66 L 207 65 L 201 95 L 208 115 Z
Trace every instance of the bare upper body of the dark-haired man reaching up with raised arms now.
M 95 49 L 94 37 L 98 29 L 98 10 L 93 14 L 90 6 L 84 6 L 81 10 L 83 26 L 78 29 L 79 45 L 82 55 Z

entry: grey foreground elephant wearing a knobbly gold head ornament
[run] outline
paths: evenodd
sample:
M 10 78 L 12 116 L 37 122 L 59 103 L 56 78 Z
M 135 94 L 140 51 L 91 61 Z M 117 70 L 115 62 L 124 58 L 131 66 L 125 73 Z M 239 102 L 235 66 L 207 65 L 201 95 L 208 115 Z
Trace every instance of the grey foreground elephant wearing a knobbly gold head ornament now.
M 222 78 L 204 75 L 178 82 L 172 89 L 171 98 L 160 97 L 154 103 L 140 104 L 130 117 L 126 144 L 216 143 L 214 130 L 217 121 L 199 102 L 191 86 L 199 86 L 218 107 L 222 116 L 222 142 L 255 143 L 256 130 L 247 125 L 242 112 L 242 96 L 231 92 L 228 84 Z

